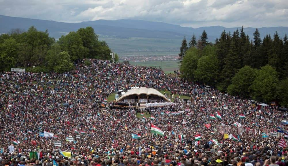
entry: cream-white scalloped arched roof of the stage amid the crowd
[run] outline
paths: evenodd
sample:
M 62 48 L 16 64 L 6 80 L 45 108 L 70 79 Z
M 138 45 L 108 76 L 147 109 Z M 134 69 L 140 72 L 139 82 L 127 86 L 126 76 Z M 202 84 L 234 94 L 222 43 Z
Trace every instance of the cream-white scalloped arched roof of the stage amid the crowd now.
M 169 101 L 169 99 L 167 99 L 158 90 L 153 89 L 153 88 L 146 88 L 146 87 L 130 89 L 130 90 L 128 90 L 128 92 L 126 92 L 124 95 L 122 95 L 117 101 L 120 101 L 120 100 L 122 100 L 125 97 L 130 96 L 130 95 L 141 95 L 141 94 L 156 95 L 156 96 L 162 97 L 166 101 Z

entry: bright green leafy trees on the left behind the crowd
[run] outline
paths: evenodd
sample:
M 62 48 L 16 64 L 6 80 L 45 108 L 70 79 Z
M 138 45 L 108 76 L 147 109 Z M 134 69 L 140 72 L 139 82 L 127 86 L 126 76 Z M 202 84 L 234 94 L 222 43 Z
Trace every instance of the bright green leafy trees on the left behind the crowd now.
M 110 52 L 108 44 L 98 40 L 92 27 L 69 32 L 58 41 L 49 37 L 48 30 L 38 31 L 35 27 L 30 27 L 28 31 L 12 29 L 0 35 L 0 71 L 19 67 L 34 72 L 61 73 L 73 69 L 73 63 L 78 60 L 109 60 Z M 118 61 L 117 54 L 115 59 Z

